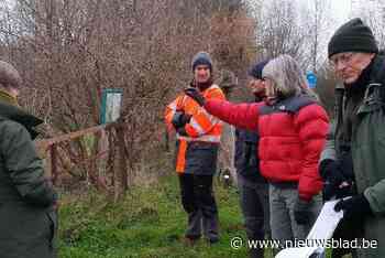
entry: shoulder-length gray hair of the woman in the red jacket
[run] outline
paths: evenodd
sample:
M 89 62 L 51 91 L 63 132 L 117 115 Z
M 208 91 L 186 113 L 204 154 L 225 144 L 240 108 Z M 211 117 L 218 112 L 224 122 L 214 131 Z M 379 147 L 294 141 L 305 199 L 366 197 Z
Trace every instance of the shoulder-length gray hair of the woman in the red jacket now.
M 279 55 L 270 61 L 263 68 L 262 76 L 273 80 L 275 92 L 285 98 L 300 94 L 316 96 L 309 88 L 299 64 L 289 55 Z

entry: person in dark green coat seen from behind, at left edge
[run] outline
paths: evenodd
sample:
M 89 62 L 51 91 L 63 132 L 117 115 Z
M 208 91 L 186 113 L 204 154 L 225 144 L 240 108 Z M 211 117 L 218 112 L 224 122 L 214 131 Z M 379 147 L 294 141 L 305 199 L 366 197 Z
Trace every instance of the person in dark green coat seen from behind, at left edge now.
M 33 143 L 42 120 L 18 105 L 21 88 L 18 71 L 0 61 L 0 257 L 53 258 L 57 194 Z

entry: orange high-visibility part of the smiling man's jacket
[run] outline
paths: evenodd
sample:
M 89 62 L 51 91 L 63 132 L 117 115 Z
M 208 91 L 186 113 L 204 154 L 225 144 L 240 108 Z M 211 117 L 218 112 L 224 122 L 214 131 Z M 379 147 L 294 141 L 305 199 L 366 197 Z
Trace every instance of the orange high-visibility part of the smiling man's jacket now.
M 226 99 L 223 92 L 217 85 L 211 85 L 201 94 L 206 99 Z M 187 143 L 190 141 L 219 143 L 222 132 L 222 122 L 208 114 L 205 108 L 200 107 L 194 99 L 183 94 L 177 96 L 177 98 L 166 107 L 165 120 L 169 131 L 175 129 L 172 120 L 176 111 L 184 111 L 187 115 L 191 115 L 190 121 L 185 126 L 188 136 L 176 135 L 179 141 L 176 171 L 183 173 L 185 171 Z

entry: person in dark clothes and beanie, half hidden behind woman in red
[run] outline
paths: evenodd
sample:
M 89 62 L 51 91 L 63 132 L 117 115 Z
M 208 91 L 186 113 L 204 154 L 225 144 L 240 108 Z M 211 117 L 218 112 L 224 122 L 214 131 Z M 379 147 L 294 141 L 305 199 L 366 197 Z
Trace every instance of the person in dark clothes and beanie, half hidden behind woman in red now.
M 255 101 L 262 101 L 265 96 L 262 69 L 266 64 L 267 61 L 256 63 L 249 71 L 251 76 L 249 87 L 255 96 Z M 271 236 L 268 186 L 260 173 L 257 144 L 257 133 L 243 129 L 235 130 L 234 164 L 241 193 L 241 208 L 250 240 L 262 240 L 265 235 Z M 263 258 L 263 249 L 250 249 L 250 257 Z

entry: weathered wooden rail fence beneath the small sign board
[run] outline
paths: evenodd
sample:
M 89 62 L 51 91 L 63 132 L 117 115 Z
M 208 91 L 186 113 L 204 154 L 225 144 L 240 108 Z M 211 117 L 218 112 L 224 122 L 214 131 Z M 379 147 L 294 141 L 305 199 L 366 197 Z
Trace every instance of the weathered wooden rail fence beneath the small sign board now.
M 70 159 L 65 162 L 65 157 L 72 157 L 68 146 L 80 141 L 85 137 L 94 136 L 94 148 L 91 153 L 82 159 Z M 107 140 L 107 148 L 99 148 L 99 142 Z M 54 185 L 57 185 L 58 179 L 72 169 L 82 166 L 87 170 L 87 180 L 97 189 L 113 194 L 114 201 L 118 201 L 128 190 L 128 151 L 124 140 L 124 122 L 112 122 L 108 125 L 96 126 L 84 130 L 70 132 L 51 139 L 36 140 L 36 148 L 45 159 L 45 169 L 48 176 L 52 178 Z M 67 148 L 65 148 L 67 146 Z M 82 144 L 79 144 L 82 146 Z M 103 146 L 103 144 L 101 144 Z M 82 147 L 84 148 L 84 147 Z M 85 152 L 87 152 L 85 150 Z M 99 173 L 98 162 L 106 162 L 108 176 L 101 176 Z M 66 170 L 63 168 L 67 166 Z M 70 165 L 68 165 L 70 163 Z M 59 164 L 62 166 L 59 168 Z M 107 180 L 109 178 L 110 180 Z

